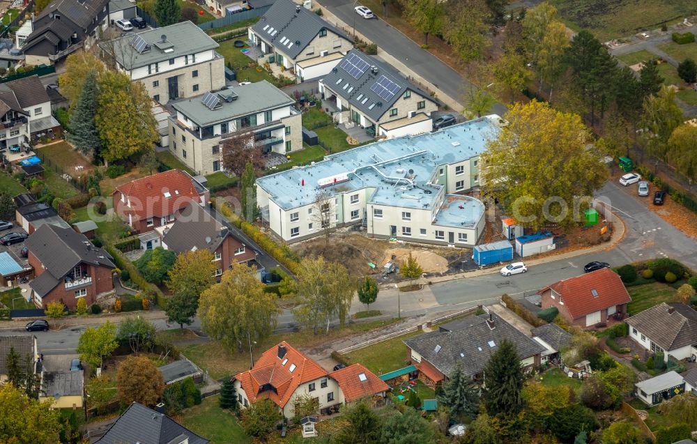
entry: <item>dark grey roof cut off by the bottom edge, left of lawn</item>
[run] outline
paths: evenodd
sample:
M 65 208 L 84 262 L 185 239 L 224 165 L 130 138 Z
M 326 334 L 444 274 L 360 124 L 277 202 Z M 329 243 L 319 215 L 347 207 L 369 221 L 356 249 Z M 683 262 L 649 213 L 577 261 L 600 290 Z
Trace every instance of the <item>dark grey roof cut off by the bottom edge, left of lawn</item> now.
M 174 438 L 181 443 L 206 444 L 208 440 L 194 434 L 169 416 L 134 402 L 114 422 L 107 433 L 99 438 L 100 444 L 169 444 Z

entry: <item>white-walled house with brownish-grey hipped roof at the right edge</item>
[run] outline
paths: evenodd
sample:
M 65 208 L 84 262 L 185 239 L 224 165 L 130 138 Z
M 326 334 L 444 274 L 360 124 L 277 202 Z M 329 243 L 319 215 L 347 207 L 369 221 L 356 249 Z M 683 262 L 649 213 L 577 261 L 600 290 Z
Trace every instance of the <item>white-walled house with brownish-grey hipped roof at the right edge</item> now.
M 697 356 L 697 312 L 682 303 L 660 303 L 625 320 L 629 337 L 648 351 L 681 360 Z

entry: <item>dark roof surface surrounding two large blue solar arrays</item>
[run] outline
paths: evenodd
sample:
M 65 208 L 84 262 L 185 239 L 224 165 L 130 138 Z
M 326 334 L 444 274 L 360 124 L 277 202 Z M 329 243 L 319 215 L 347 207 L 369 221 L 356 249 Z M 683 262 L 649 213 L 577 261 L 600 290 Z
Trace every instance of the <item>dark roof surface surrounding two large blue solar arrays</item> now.
M 344 60 L 348 57 L 353 59 L 353 57 L 356 56 L 360 57 L 360 59 L 368 64 L 368 67 L 362 72 L 358 79 L 355 79 L 348 71 L 341 68 Z M 372 66 L 375 66 L 376 72 L 372 71 Z M 351 70 L 351 68 L 353 68 L 353 66 L 348 67 L 349 70 Z M 392 83 L 399 86 L 399 91 L 397 91 L 390 100 L 381 98 L 377 93 L 371 90 L 372 86 L 380 80 L 383 75 Z M 372 118 L 374 121 L 377 121 L 383 114 L 388 112 L 390 108 L 395 105 L 395 102 L 404 96 L 407 90 L 421 95 L 424 100 L 434 101 L 427 93 L 424 93 L 424 91 L 411 84 L 401 72 L 392 68 L 390 64 L 376 57 L 363 54 L 358 51 L 358 49 L 351 49 L 351 51 L 347 52 L 344 59 L 339 62 L 336 68 L 323 77 L 322 83 L 340 97 L 348 100 L 351 106 L 360 110 L 362 114 Z M 348 84 L 348 86 L 344 89 L 346 84 Z M 349 89 L 351 89 L 351 92 L 348 92 Z M 360 100 L 358 100 L 359 97 Z M 366 98 L 367 100 L 365 100 Z

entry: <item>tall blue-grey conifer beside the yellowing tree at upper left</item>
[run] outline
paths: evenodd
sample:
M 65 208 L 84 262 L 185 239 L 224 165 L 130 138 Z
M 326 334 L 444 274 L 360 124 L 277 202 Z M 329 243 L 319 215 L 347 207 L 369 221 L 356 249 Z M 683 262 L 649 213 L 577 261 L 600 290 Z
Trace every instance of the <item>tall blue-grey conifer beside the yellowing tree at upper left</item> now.
M 70 114 L 70 135 L 68 139 L 82 154 L 99 156 L 101 139 L 95 123 L 99 89 L 97 71 L 91 70 L 85 77 L 75 109 Z

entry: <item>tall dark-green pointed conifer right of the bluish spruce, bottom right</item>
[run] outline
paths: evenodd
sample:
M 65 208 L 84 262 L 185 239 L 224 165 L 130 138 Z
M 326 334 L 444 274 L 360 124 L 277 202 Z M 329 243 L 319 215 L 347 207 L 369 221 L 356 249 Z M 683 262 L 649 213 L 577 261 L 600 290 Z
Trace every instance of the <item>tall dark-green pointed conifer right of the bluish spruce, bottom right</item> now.
M 512 342 L 504 340 L 484 368 L 484 404 L 491 415 L 510 417 L 523 408 L 523 368 Z

